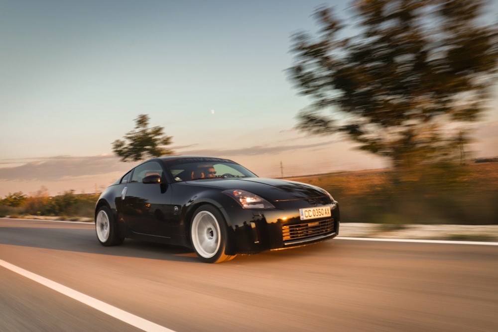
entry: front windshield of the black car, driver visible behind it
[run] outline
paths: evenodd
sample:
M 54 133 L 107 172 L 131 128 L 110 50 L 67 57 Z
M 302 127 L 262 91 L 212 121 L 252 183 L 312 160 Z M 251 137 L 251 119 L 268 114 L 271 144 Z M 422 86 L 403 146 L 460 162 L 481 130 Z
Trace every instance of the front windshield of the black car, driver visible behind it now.
M 176 182 L 199 179 L 256 177 L 254 173 L 237 163 L 215 158 L 191 158 L 183 162 L 182 160 L 175 160 L 173 163 L 168 163 L 168 168 Z

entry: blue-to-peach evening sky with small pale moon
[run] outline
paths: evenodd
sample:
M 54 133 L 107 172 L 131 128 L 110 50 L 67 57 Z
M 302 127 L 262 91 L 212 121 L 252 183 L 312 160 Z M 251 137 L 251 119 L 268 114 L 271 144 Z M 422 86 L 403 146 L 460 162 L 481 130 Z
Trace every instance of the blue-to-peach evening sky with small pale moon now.
M 291 35 L 316 30 L 323 3 L 350 16 L 341 0 L 2 1 L 0 198 L 102 191 L 136 165 L 112 142 L 139 114 L 176 154 L 262 177 L 387 167 L 342 137 L 294 129 L 310 101 L 285 73 Z M 476 124 L 477 157 L 498 156 L 497 96 Z

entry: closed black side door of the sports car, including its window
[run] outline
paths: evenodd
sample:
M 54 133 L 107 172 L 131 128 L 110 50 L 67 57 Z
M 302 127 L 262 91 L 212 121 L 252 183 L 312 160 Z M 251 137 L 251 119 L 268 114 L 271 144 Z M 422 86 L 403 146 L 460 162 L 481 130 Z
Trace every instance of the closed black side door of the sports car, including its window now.
M 157 161 L 138 165 L 122 192 L 123 219 L 136 234 L 171 237 L 171 187 L 164 183 L 143 183 L 149 175 L 161 176 L 163 169 Z

